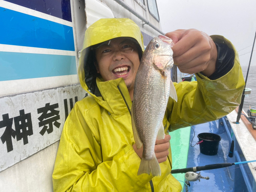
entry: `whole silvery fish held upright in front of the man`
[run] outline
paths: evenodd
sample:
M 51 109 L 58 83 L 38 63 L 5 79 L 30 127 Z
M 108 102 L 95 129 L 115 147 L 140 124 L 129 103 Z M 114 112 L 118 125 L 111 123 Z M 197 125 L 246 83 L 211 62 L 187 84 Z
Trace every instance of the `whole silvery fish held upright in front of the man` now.
M 164 139 L 163 117 L 169 96 L 177 101 L 171 80 L 173 67 L 172 39 L 159 35 L 151 40 L 141 58 L 135 78 L 132 126 L 137 148 L 143 144 L 138 175 L 161 175 L 155 155 L 156 139 Z

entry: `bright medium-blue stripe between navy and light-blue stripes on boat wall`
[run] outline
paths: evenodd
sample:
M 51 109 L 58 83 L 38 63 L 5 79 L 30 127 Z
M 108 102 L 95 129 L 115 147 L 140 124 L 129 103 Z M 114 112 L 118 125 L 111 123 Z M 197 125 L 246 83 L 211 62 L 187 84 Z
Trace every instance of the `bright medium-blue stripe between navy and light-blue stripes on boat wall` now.
M 75 51 L 73 28 L 0 7 L 0 44 Z

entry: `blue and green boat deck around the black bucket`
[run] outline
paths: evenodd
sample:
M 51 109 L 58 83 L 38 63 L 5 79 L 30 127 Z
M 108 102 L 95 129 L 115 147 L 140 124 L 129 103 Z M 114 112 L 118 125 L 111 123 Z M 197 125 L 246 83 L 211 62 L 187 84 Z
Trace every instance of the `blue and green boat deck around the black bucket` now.
M 184 130 L 181 129 L 181 131 L 177 130 L 170 133 L 172 136 L 173 169 L 255 160 L 255 140 L 253 138 L 253 140 L 250 140 L 250 137 L 252 136 L 247 135 L 248 130 L 246 127 L 243 128 L 243 125 L 241 125 L 242 123 L 239 125 L 229 123 L 236 121 L 236 114 L 233 113 L 236 112 L 232 112 L 230 115 L 217 121 L 193 126 L 195 137 L 192 141 L 192 145 L 196 144 L 198 141 L 197 135 L 200 133 L 215 133 L 221 136 L 218 154 L 214 156 L 200 153 L 199 145 L 196 145 L 195 147 L 190 146 L 194 131 L 191 129 L 191 132 L 189 133 L 189 127 Z M 233 118 L 235 119 L 233 120 Z M 235 131 L 233 132 L 233 130 Z M 189 139 L 186 139 L 188 136 Z M 234 140 L 235 143 L 234 155 L 232 158 L 228 157 L 231 140 Z M 209 180 L 201 179 L 200 182 L 190 182 L 188 191 L 256 191 L 254 180 L 256 171 L 254 170 L 254 167 L 256 167 L 256 162 L 232 165 L 219 169 L 203 170 L 200 172 L 201 175 L 203 177 L 209 177 Z M 185 174 L 174 174 L 174 177 L 180 180 L 181 184 L 184 185 L 184 183 L 182 183 L 182 181 L 184 181 L 184 175 Z M 186 191 L 185 187 L 183 188 L 184 191 Z

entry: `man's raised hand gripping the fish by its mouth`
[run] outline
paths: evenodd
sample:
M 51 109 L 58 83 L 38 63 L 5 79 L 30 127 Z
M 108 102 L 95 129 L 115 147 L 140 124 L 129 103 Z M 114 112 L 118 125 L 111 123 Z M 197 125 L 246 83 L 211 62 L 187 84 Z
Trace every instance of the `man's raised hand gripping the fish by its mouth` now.
M 214 41 L 206 33 L 196 30 L 176 30 L 166 33 L 175 45 L 174 63 L 183 73 L 202 72 L 210 76 L 215 71 L 217 48 Z

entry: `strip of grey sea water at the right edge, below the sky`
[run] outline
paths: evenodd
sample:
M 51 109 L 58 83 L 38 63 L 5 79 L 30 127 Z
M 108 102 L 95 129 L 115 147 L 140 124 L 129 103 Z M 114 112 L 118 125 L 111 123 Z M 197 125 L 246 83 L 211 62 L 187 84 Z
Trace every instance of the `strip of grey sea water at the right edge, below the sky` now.
M 244 79 L 246 79 L 248 66 L 242 66 Z M 250 66 L 248 78 L 246 82 L 246 88 L 251 89 L 249 95 L 245 95 L 243 110 L 247 113 L 247 110 L 251 107 L 256 107 L 256 66 Z

